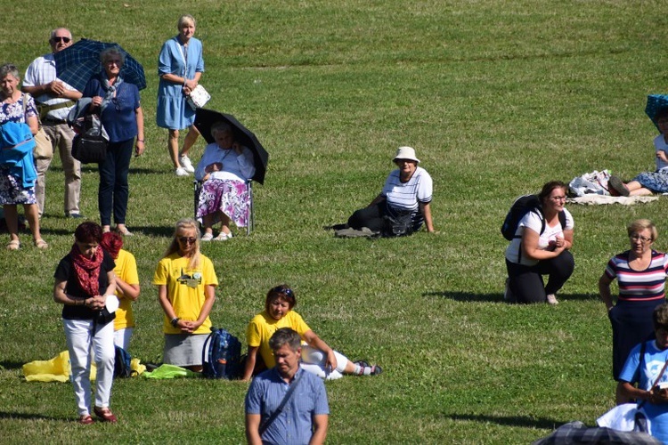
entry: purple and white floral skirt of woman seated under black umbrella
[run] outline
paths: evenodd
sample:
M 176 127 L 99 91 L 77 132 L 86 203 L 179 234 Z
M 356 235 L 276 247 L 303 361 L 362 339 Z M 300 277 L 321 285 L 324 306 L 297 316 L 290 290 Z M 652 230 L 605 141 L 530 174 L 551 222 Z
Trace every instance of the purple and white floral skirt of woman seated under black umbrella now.
M 230 179 L 210 179 L 202 184 L 200 201 L 197 204 L 197 219 L 214 214 L 213 223 L 220 221 L 220 214 L 226 214 L 237 227 L 248 225 L 250 197 L 245 182 Z

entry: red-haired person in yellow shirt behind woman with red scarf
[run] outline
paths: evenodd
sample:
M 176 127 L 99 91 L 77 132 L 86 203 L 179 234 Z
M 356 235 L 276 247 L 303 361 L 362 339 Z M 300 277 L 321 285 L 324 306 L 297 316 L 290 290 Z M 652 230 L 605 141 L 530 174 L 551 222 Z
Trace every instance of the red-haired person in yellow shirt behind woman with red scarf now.
M 129 350 L 130 337 L 134 331 L 134 312 L 132 303 L 139 298 L 139 274 L 134 255 L 123 249 L 123 238 L 116 232 L 102 234 L 100 246 L 114 259 L 116 296 L 118 309 L 114 319 L 114 344 Z

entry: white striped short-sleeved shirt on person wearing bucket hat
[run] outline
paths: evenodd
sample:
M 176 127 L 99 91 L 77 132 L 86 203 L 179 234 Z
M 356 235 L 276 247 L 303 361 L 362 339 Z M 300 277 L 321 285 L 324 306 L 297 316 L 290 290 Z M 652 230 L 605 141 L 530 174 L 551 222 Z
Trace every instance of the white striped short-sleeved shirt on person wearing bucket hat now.
M 418 210 L 418 203 L 431 202 L 431 176 L 422 167 L 417 167 L 408 182 L 401 182 L 399 170 L 396 169 L 387 176 L 385 187 L 380 192 L 387 199 L 387 204 L 398 209 L 414 212 Z

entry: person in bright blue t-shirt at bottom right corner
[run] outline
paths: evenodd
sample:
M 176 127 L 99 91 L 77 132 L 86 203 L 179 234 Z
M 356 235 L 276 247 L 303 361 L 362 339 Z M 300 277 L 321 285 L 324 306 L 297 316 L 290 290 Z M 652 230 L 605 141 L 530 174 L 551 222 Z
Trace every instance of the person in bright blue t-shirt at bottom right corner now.
M 649 421 L 649 433 L 668 443 L 668 304 L 656 306 L 652 321 L 656 340 L 631 350 L 619 376 L 617 393 L 626 400 L 639 401 Z

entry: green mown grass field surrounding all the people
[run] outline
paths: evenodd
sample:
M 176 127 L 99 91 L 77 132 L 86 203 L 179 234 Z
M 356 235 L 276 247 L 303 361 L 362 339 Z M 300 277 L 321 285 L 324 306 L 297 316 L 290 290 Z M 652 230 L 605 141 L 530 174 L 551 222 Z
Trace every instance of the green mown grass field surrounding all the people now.
M 625 178 L 654 166 L 648 93 L 665 93 L 668 19 L 658 1 L 103 0 L 5 2 L 2 57 L 24 71 L 48 32 L 116 41 L 141 61 L 147 153 L 133 160 L 126 248 L 142 295 L 131 351 L 159 361 L 162 312 L 151 286 L 175 221 L 192 213 L 167 132 L 155 125 L 157 58 L 182 13 L 198 20 L 212 95 L 271 154 L 249 237 L 203 247 L 221 280 L 212 320 L 244 340 L 266 291 L 287 282 L 297 311 L 379 377 L 328 383 L 330 443 L 529 443 L 614 404 L 611 332 L 597 296 L 625 225 L 668 204 L 569 206 L 572 279 L 557 307 L 502 303 L 513 199 L 594 169 Z M 401 145 L 435 182 L 437 234 L 334 239 L 374 198 Z M 200 140 L 191 158 L 199 159 Z M 0 440 L 4 443 L 240 443 L 247 384 L 116 381 L 118 425 L 77 425 L 70 384 L 29 384 L 21 365 L 66 349 L 53 271 L 77 221 L 62 216 L 56 159 L 42 220 L 46 252 L 0 253 Z M 82 212 L 97 221 L 98 174 L 84 169 Z M 6 235 L 5 235 L 6 236 Z M 4 246 L 2 241 L 0 246 Z

